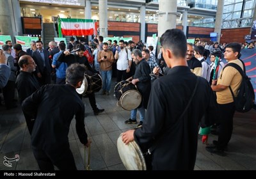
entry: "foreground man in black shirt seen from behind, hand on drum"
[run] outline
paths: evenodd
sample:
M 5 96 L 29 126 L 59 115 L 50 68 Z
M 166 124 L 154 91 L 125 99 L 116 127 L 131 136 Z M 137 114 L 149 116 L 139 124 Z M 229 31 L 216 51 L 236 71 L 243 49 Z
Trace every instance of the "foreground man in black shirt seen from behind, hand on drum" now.
M 164 61 L 171 69 L 152 84 L 143 125 L 125 132 L 122 140 L 125 144 L 135 140 L 146 149 L 154 146 L 151 154 L 154 170 L 193 170 L 199 122 L 205 114 L 201 126 L 211 125 L 216 102 L 209 82 L 196 77 L 187 65 L 184 32 L 169 29 L 161 36 L 160 42 Z M 193 96 L 197 80 L 198 87 Z M 191 103 L 185 110 L 190 98 Z

